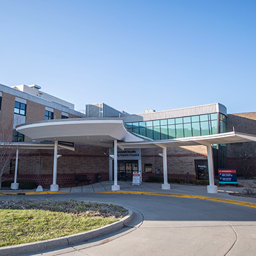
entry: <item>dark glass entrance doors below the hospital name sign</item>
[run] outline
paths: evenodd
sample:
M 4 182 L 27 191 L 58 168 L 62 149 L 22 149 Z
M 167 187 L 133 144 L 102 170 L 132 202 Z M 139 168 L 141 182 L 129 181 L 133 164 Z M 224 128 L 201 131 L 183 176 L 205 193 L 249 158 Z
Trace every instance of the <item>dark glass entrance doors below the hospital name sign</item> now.
M 118 180 L 132 180 L 133 172 L 138 172 L 138 160 L 119 160 L 117 162 Z

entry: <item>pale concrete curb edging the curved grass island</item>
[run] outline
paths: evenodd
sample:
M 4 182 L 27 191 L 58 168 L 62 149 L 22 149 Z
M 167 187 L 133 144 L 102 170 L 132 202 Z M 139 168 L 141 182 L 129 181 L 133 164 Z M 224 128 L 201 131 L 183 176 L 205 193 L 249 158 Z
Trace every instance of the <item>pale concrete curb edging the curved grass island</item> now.
M 61 247 L 69 246 L 71 244 L 83 243 L 88 239 L 92 239 L 98 236 L 102 236 L 104 234 L 108 234 L 109 232 L 113 232 L 115 230 L 125 227 L 132 220 L 132 218 L 134 217 L 134 213 L 131 209 L 127 209 L 127 210 L 129 212 L 127 216 L 122 218 L 122 220 L 106 225 L 104 227 L 90 230 L 88 232 L 49 239 L 45 241 L 38 241 L 33 243 L 1 247 L 0 256 L 13 256 L 13 255 L 26 254 L 26 253 L 35 253 L 35 252 L 48 250 L 52 248 L 61 248 Z

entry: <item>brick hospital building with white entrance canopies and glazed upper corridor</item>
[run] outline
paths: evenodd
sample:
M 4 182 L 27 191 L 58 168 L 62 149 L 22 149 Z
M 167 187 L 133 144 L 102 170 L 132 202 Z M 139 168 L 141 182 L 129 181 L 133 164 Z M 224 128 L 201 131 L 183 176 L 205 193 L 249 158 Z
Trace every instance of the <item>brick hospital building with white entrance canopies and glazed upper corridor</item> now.
M 138 172 L 141 182 L 163 177 L 162 188 L 169 189 L 168 177 L 189 174 L 209 180 L 209 193 L 216 193 L 220 168 L 238 176 L 247 168 L 256 177 L 256 112 L 228 114 L 220 103 L 132 115 L 105 103 L 74 109 L 36 84 L 0 84 L 1 143 L 14 150 L 3 179 L 58 191 L 86 175 L 87 183 L 110 180 L 118 190 L 118 180 Z M 250 157 L 241 159 L 246 152 Z

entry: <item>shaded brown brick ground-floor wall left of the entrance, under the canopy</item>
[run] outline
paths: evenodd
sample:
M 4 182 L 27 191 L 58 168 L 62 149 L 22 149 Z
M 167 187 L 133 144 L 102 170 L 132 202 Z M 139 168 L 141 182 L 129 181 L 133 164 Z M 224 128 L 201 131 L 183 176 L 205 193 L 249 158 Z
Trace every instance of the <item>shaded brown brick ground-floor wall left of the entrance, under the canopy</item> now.
M 97 182 L 97 173 L 101 174 L 101 180 L 109 180 L 108 148 L 77 145 L 74 152 L 60 150 L 60 154 L 62 156 L 58 158 L 57 184 L 61 187 L 75 186 L 75 174 L 86 174 L 92 183 Z M 52 184 L 53 150 L 19 150 L 18 180 L 38 183 L 40 168 L 41 184 L 47 188 Z

